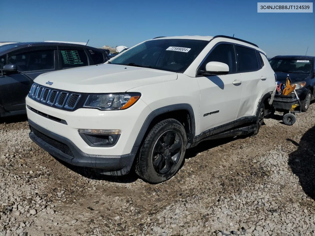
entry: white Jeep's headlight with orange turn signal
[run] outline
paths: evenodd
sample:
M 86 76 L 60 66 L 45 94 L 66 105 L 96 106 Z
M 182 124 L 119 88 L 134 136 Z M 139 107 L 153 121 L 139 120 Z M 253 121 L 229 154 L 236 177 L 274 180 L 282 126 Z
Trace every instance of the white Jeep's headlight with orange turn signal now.
M 83 107 L 99 110 L 124 110 L 135 104 L 140 93 L 89 94 Z

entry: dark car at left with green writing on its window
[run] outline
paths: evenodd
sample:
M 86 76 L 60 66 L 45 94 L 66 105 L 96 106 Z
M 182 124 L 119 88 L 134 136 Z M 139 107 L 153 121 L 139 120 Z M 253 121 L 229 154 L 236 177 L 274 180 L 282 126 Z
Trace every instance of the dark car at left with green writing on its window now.
M 21 42 L 0 46 L 0 117 L 26 113 L 25 98 L 40 74 L 107 60 L 106 50 L 80 44 Z

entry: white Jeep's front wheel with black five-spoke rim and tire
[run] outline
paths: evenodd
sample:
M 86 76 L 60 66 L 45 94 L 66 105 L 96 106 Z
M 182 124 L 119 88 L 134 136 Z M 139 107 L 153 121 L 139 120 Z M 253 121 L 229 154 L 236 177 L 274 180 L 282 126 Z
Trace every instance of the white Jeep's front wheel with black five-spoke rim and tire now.
M 179 121 L 166 119 L 158 122 L 141 146 L 135 172 L 149 183 L 169 180 L 180 169 L 186 145 L 186 132 Z

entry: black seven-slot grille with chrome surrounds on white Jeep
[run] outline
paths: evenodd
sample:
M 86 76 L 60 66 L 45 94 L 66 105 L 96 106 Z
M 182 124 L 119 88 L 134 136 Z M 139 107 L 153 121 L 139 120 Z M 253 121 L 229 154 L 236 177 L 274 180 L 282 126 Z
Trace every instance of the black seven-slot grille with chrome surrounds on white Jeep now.
M 81 94 L 59 89 L 51 89 L 46 86 L 33 83 L 28 97 L 43 104 L 54 106 L 60 109 L 72 110 L 76 108 L 81 98 Z

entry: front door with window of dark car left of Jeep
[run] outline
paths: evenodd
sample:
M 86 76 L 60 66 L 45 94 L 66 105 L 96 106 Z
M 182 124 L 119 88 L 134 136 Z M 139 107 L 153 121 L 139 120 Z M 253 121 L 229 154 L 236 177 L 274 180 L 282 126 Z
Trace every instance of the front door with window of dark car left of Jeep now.
M 33 80 L 55 70 L 55 49 L 55 46 L 28 47 L 6 55 L 6 64 L 14 64 L 26 74 L 5 74 L 0 78 L 0 96 L 6 111 L 25 110 L 25 98 Z

